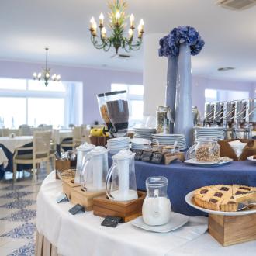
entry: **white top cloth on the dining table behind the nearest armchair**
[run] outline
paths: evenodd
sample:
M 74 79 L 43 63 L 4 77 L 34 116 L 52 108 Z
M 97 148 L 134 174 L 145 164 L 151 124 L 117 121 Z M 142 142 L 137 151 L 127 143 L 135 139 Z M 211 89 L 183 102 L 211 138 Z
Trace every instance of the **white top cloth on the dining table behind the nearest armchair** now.
M 0 137 L 0 144 L 4 145 L 12 154 L 16 147 L 22 147 L 33 141 L 33 136 Z

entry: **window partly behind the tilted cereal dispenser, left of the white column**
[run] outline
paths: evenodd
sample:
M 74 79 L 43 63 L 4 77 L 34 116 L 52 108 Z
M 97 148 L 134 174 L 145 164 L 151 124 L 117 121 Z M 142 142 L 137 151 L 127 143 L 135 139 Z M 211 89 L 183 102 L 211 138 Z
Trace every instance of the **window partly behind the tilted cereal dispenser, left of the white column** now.
M 112 84 L 111 91 L 127 91 L 127 99 L 130 111 L 130 126 L 134 126 L 143 120 L 143 85 Z

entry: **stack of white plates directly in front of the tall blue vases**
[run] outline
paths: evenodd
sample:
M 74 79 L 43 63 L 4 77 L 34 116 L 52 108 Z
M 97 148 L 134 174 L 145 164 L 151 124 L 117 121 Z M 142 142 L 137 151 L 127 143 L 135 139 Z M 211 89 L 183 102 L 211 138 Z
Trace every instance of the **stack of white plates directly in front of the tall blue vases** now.
M 184 134 L 153 134 L 153 143 L 159 143 L 159 145 L 174 145 L 175 141 L 177 141 L 177 146 L 179 150 L 185 150 L 185 136 Z

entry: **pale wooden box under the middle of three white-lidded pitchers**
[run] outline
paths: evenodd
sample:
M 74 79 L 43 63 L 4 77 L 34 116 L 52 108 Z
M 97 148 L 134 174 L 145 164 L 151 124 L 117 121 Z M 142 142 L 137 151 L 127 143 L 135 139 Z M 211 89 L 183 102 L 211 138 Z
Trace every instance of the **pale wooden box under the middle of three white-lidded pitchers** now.
M 92 211 L 92 200 L 100 195 L 106 195 L 105 190 L 103 192 L 86 192 L 79 187 L 73 187 L 71 189 L 71 202 L 76 205 L 84 206 L 87 211 Z

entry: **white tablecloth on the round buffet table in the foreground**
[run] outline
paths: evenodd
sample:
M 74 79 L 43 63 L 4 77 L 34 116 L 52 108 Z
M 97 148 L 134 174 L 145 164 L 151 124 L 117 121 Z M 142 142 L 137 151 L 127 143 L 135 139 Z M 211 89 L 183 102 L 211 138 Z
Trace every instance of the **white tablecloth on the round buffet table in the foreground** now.
M 68 213 L 70 202 L 56 202 L 60 193 L 61 181 L 56 181 L 52 172 L 37 197 L 36 227 L 64 256 L 245 256 L 256 252 L 254 241 L 222 247 L 208 233 L 203 234 L 207 221 L 203 217 L 191 217 L 185 227 L 168 234 L 140 230 L 130 222 L 115 229 L 102 227 L 103 218 L 93 216 L 92 212 L 76 216 Z

